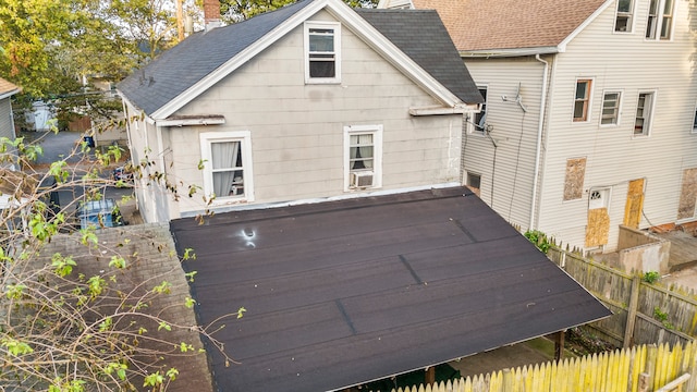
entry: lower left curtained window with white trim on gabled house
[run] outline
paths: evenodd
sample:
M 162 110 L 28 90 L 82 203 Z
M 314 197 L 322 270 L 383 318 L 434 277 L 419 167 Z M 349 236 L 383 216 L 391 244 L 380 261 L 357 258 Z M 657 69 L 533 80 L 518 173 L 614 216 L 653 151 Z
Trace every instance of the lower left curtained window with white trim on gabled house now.
M 254 200 L 249 131 L 200 134 L 204 192 L 217 200 Z

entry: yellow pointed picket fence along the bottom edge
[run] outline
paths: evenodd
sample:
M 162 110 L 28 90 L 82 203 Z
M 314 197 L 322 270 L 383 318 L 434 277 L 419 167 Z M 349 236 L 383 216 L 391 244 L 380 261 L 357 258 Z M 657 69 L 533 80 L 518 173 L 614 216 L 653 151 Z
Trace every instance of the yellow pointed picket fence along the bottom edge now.
M 398 392 L 644 392 L 659 391 L 683 375 L 695 376 L 697 344 L 643 345 L 566 358 L 560 363 L 505 369 Z M 697 377 L 684 376 L 682 391 L 697 390 Z M 672 389 L 671 389 L 672 390 Z M 394 392 L 395 390 L 392 390 Z

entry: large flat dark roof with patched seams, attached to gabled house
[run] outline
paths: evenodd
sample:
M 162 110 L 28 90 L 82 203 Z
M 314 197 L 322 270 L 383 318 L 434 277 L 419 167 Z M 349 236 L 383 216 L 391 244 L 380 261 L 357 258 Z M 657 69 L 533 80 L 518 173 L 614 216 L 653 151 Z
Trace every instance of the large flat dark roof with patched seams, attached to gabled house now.
M 221 391 L 331 391 L 610 315 L 464 187 L 171 222 Z

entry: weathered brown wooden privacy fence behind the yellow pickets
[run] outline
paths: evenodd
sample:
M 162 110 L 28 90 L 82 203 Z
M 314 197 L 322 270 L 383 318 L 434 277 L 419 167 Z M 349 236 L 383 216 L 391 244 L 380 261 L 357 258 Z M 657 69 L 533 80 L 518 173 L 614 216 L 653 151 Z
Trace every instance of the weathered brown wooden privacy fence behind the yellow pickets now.
M 649 284 L 555 246 L 547 256 L 612 310 L 612 317 L 588 327 L 615 346 L 685 344 L 697 336 L 694 294 Z

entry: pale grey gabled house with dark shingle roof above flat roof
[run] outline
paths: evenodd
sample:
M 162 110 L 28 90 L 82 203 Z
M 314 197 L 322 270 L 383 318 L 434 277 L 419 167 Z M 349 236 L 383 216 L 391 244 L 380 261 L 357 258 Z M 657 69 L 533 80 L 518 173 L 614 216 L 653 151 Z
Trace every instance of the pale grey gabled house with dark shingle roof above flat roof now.
M 138 187 L 148 222 L 460 185 L 463 114 L 482 101 L 436 12 L 339 0 L 194 34 L 118 89 L 134 163 L 200 187 Z

